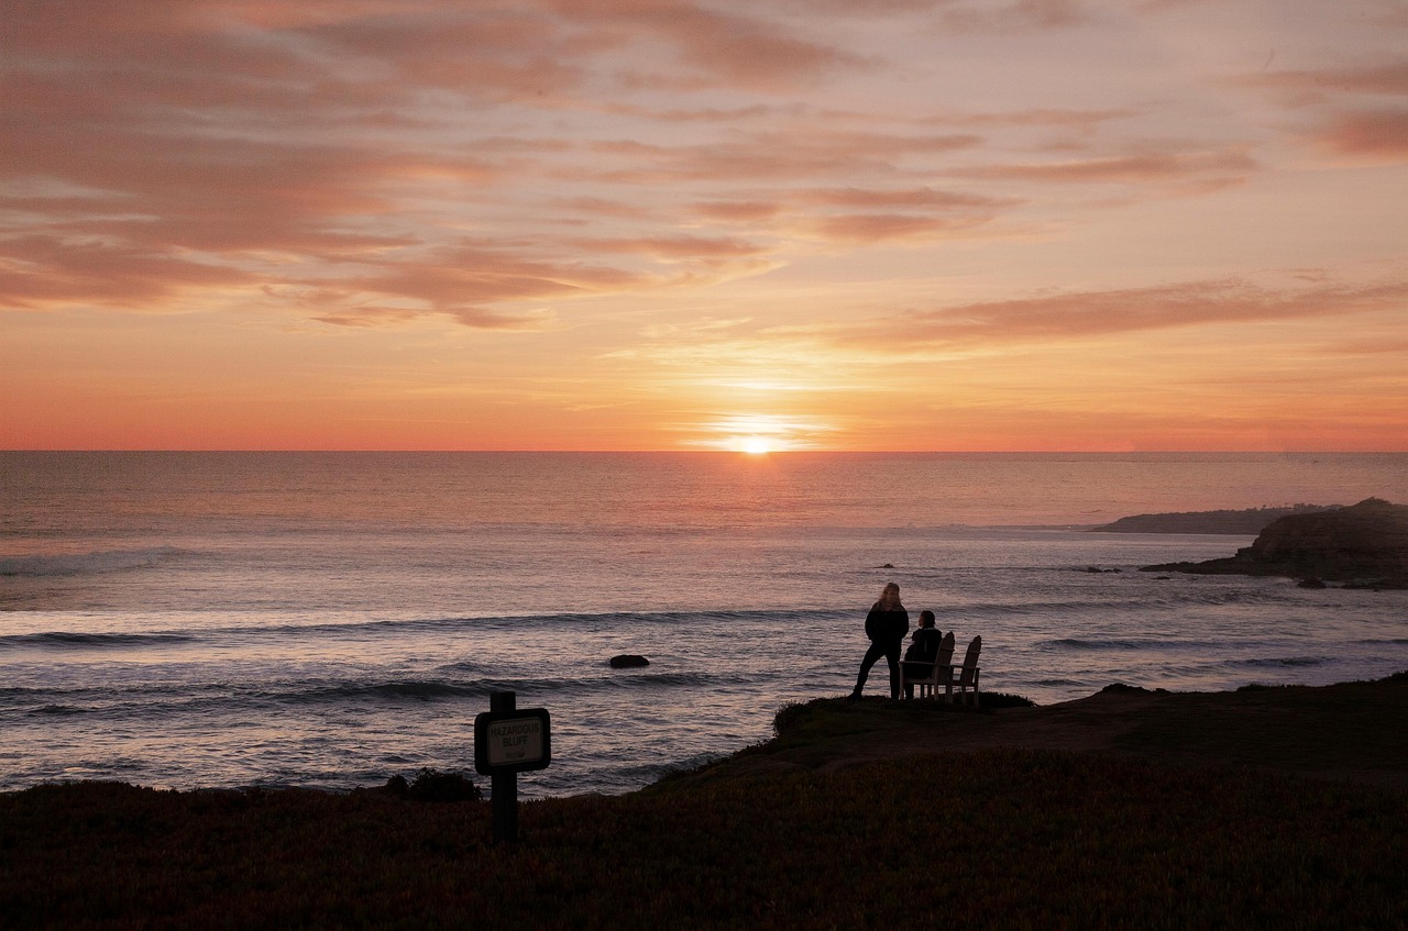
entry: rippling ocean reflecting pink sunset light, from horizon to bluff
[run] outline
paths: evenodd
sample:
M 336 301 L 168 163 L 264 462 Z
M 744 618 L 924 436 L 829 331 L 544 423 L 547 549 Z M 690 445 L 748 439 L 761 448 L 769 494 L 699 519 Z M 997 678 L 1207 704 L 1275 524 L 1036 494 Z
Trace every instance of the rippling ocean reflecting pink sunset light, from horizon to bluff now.
M 1252 537 L 1088 530 L 1369 496 L 1408 454 L 0 453 L 0 789 L 487 789 L 503 689 L 552 716 L 524 797 L 628 792 L 849 692 L 890 581 L 1042 705 L 1378 678 L 1408 592 L 1160 579 Z

